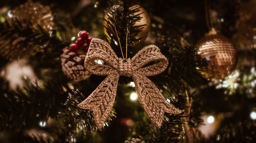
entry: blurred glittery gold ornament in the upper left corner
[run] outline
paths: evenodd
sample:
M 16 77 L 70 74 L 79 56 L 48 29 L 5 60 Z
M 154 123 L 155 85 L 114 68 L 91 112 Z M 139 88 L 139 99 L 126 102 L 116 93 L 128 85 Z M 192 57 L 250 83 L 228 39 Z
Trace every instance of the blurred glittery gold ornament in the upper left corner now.
M 38 25 L 40 25 L 44 30 L 50 32 L 54 26 L 50 7 L 34 3 L 30 0 L 9 11 L 7 17 L 9 23 L 11 23 L 13 18 L 17 18 L 22 24 L 31 23 L 36 30 L 39 30 Z

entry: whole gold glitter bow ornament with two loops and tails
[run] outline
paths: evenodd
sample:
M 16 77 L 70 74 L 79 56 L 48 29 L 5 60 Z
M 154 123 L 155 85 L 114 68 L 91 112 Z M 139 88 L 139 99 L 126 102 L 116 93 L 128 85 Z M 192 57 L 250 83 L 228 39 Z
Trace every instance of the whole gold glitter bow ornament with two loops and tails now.
M 102 60 L 105 64 L 97 64 L 95 60 Z M 152 62 L 158 63 L 145 67 Z M 146 46 L 132 59 L 124 60 L 117 57 L 107 42 L 93 39 L 84 66 L 91 74 L 107 77 L 86 100 L 78 104 L 78 107 L 92 110 L 95 124 L 101 129 L 114 105 L 119 76 L 128 76 L 135 82 L 138 99 L 146 115 L 155 126 L 161 127 L 164 112 L 177 114 L 181 111 L 168 103 L 146 76 L 163 72 L 167 65 L 168 60 L 155 45 Z

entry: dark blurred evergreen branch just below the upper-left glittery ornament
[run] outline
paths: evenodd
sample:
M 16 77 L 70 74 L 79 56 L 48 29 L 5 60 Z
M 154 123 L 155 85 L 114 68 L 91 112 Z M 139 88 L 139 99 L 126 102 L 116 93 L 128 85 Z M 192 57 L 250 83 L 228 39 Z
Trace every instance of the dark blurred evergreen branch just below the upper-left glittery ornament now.
M 22 24 L 17 18 L 0 23 L 0 31 L 0 53 L 10 60 L 38 52 L 59 55 L 65 45 L 55 36 L 54 30 L 48 33 L 39 25 Z

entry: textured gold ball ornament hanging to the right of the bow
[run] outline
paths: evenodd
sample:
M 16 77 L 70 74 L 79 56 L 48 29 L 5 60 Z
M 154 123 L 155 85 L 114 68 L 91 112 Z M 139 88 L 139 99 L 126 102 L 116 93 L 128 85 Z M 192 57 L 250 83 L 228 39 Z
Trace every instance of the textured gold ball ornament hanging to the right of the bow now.
M 207 62 L 202 74 L 208 79 L 222 79 L 236 67 L 236 48 L 228 38 L 217 34 L 214 28 L 199 40 L 196 48 L 201 58 Z

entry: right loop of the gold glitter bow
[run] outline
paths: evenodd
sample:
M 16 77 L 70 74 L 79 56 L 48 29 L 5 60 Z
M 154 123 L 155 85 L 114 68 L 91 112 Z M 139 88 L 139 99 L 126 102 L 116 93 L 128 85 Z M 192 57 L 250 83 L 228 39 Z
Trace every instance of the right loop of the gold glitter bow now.
M 134 70 L 144 76 L 157 75 L 163 72 L 168 66 L 168 60 L 155 45 L 148 45 L 142 48 L 133 57 L 132 63 Z

